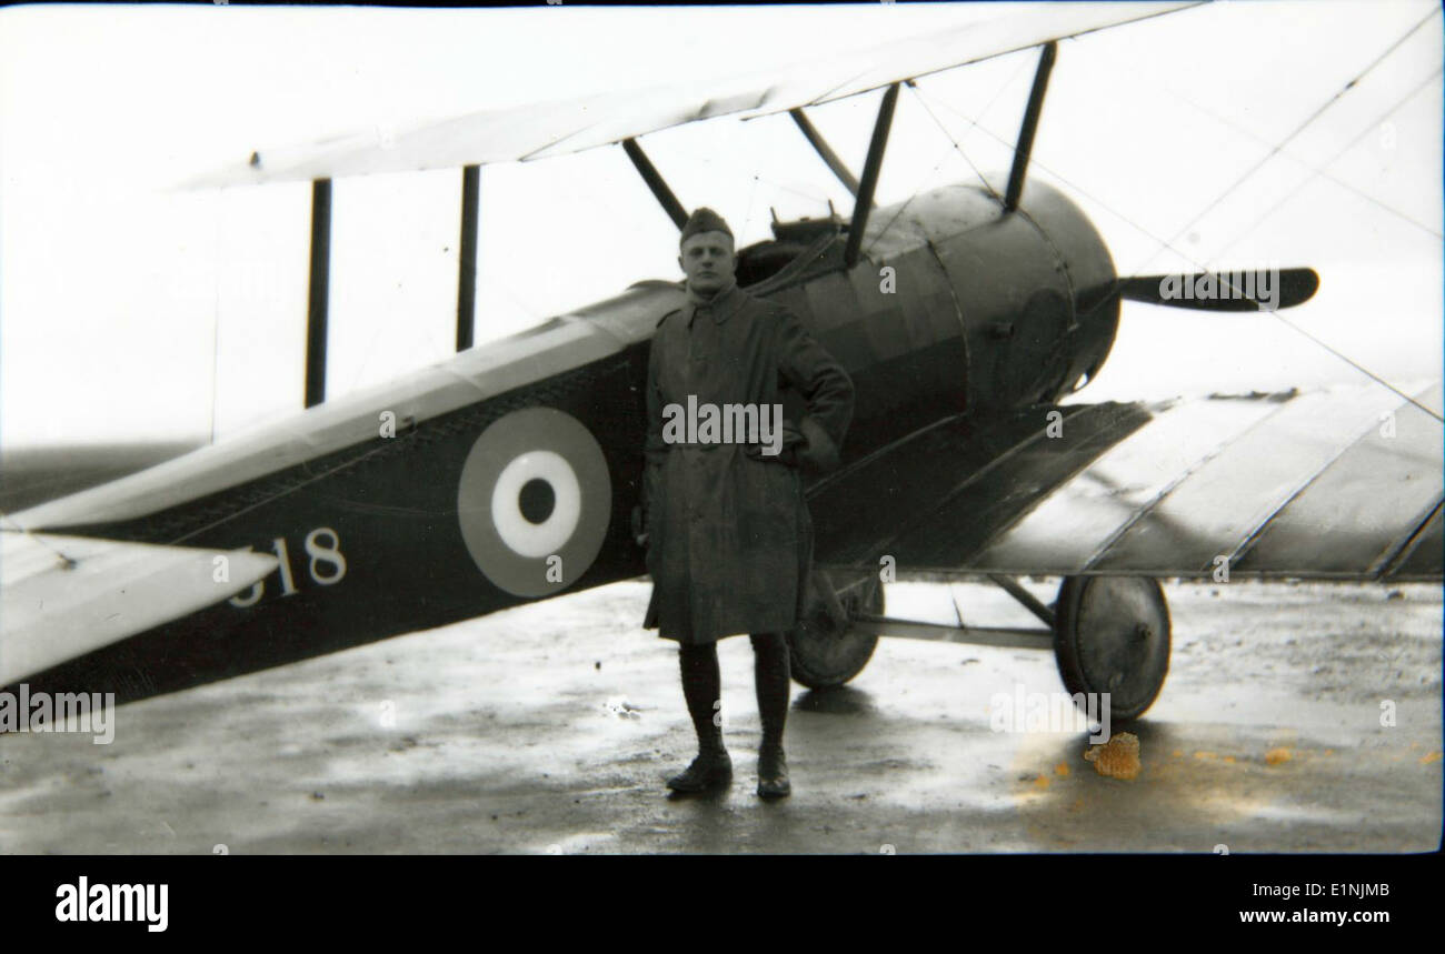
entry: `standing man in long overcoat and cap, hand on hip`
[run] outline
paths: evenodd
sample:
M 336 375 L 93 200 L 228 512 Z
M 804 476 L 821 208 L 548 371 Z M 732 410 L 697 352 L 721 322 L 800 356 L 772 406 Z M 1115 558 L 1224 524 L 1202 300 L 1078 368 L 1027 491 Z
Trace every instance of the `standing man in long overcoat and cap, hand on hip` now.
M 737 287 L 733 232 L 696 209 L 682 229 L 678 264 L 686 303 L 668 313 L 647 362 L 643 521 L 653 579 L 646 628 L 679 642 L 682 693 L 698 756 L 668 779 L 675 791 L 727 785 L 717 641 L 750 634 L 763 739 L 757 794 L 792 791 L 783 756 L 790 673 L 786 632 L 803 605 L 812 524 L 799 466 L 828 471 L 853 417 L 853 381 L 779 305 Z M 681 408 L 741 406 L 762 427 L 724 442 L 665 417 Z M 795 413 L 785 419 L 785 413 Z M 775 417 L 776 414 L 776 417 Z M 777 433 L 760 433 L 780 429 Z M 704 439 L 707 434 L 707 439 Z

